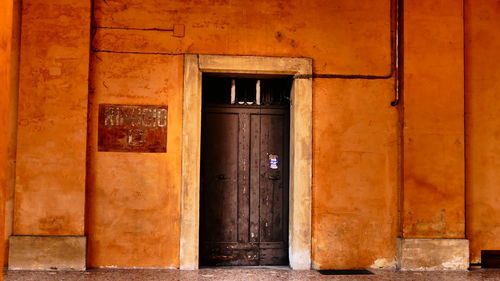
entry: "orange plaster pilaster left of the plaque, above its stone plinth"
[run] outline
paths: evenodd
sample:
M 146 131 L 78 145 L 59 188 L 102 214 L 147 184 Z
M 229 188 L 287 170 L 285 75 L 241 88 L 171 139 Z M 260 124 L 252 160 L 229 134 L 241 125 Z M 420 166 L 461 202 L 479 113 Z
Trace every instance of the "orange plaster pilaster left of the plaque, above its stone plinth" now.
M 90 1 L 22 1 L 14 234 L 83 235 Z

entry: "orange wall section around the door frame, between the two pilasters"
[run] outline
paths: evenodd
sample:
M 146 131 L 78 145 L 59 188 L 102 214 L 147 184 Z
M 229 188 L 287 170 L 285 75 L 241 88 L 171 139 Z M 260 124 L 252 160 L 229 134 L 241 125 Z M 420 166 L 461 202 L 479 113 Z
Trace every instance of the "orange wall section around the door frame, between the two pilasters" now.
M 389 0 L 107 0 L 96 1 L 94 12 L 100 27 L 186 28 L 184 37 L 96 30 L 93 105 L 168 104 L 169 140 L 166 154 L 95 152 L 92 125 L 87 233 L 94 267 L 178 266 L 177 54 L 304 56 L 314 59 L 316 74 L 391 74 Z M 317 267 L 395 266 L 399 135 L 393 98 L 394 79 L 314 80 Z M 95 120 L 95 108 L 93 114 Z

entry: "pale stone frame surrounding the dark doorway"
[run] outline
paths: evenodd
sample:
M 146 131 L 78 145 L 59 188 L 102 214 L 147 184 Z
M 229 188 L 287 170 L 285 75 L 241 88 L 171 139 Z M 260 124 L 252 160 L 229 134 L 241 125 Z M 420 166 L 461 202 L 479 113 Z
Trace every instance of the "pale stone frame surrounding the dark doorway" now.
M 309 58 L 185 55 L 182 114 L 180 268 L 198 268 L 203 72 L 293 76 L 290 105 L 289 259 L 311 268 L 312 60 Z

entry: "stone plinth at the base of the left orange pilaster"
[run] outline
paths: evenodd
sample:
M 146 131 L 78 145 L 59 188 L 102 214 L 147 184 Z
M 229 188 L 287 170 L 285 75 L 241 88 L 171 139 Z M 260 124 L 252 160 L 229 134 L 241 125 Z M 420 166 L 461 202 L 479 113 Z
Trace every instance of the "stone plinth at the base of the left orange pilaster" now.
M 11 236 L 10 270 L 85 270 L 85 236 Z

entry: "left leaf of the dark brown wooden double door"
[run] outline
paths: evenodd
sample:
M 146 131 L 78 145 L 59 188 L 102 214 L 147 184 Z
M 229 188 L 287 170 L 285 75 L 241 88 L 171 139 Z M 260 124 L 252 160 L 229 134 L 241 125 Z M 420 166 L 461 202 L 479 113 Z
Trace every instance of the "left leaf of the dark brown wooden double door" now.
M 249 114 L 207 110 L 202 119 L 200 263 L 258 265 L 248 234 Z

